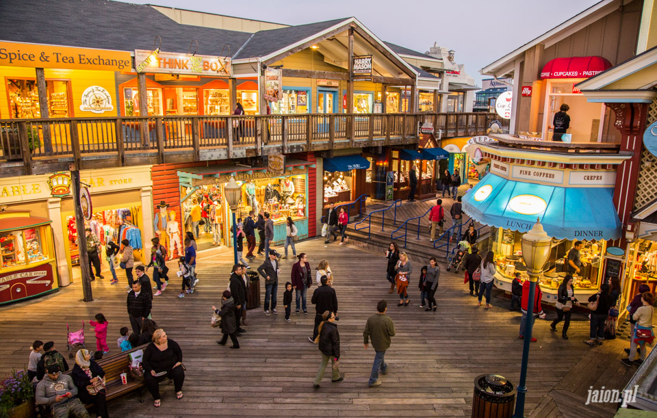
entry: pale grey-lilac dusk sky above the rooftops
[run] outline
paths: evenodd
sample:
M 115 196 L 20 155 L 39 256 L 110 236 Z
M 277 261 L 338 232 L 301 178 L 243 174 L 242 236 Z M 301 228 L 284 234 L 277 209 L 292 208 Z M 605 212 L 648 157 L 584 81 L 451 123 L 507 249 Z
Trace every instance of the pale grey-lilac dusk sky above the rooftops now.
M 301 25 L 355 16 L 379 38 L 426 52 L 434 42 L 480 86 L 479 70 L 599 0 L 132 0 Z

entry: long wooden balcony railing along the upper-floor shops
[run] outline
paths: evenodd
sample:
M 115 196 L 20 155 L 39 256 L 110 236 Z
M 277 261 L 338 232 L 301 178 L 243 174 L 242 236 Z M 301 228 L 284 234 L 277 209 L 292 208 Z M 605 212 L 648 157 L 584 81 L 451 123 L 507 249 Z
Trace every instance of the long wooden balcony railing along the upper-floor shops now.
M 413 144 L 424 122 L 448 138 L 485 134 L 495 119 L 472 113 L 0 120 L 0 177 L 70 164 L 81 169 Z

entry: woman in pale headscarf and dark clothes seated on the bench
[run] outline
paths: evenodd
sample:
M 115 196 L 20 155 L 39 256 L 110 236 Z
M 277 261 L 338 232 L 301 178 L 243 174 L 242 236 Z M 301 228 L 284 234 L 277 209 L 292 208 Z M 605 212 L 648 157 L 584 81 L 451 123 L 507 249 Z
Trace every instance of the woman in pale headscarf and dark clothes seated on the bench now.
M 83 404 L 94 404 L 96 417 L 108 418 L 107 400 L 105 400 L 105 371 L 92 358 L 89 350 L 81 349 L 75 354 L 75 366 L 70 372 L 77 397 Z

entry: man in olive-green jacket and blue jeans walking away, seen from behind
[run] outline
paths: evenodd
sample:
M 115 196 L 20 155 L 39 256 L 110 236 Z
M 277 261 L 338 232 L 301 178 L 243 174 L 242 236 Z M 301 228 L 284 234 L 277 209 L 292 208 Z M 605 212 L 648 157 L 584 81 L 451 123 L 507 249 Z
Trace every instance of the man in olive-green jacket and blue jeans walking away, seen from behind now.
M 378 379 L 378 373 L 387 374 L 388 365 L 385 363 L 385 352 L 390 348 L 390 338 L 395 336 L 395 326 L 392 319 L 385 314 L 388 303 L 385 300 L 379 300 L 376 304 L 376 313 L 370 315 L 368 322 L 365 324 L 363 331 L 363 347 L 368 349 L 370 339 L 372 348 L 374 348 L 374 364 L 370 374 L 370 387 L 381 386 L 381 380 Z

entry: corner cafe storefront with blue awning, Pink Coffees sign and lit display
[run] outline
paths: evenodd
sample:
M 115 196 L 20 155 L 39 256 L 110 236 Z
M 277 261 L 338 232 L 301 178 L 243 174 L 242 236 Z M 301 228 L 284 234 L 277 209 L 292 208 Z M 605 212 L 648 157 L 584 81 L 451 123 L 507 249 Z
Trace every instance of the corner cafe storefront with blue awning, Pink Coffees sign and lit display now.
M 511 290 L 516 272 L 526 275 L 521 237 L 540 218 L 552 237 L 552 250 L 540 278 L 543 298 L 556 302 L 556 292 L 567 274 L 568 254 L 581 242 L 580 273 L 574 274 L 580 300 L 600 288 L 606 271 L 616 271 L 616 258 L 608 254 L 608 241 L 621 235 L 613 204 L 615 170 L 610 165 L 578 166 L 543 161 L 495 159 L 491 172 L 463 198 L 463 210 L 491 226 L 489 248 L 495 253 L 495 285 Z M 612 256 L 612 257 L 608 257 Z M 611 274 L 611 273 L 610 273 Z M 609 276 L 607 274 L 607 276 Z

